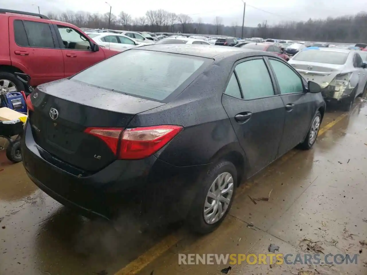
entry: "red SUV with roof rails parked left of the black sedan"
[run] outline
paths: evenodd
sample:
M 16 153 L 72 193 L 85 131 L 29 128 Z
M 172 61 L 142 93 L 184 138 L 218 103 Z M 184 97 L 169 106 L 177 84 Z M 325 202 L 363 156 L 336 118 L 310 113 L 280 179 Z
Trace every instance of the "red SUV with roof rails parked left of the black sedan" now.
M 41 14 L 0 9 L 0 88 L 24 90 L 14 72 L 29 74 L 37 86 L 72 76 L 115 55 L 78 27 Z

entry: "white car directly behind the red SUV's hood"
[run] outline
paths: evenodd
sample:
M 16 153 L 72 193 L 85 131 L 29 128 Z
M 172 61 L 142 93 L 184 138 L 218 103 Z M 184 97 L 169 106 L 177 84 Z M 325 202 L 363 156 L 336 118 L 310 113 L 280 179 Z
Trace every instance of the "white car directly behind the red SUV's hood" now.
M 119 33 L 87 33 L 95 43 L 115 51 L 125 51 L 130 48 L 149 45 L 142 43 Z

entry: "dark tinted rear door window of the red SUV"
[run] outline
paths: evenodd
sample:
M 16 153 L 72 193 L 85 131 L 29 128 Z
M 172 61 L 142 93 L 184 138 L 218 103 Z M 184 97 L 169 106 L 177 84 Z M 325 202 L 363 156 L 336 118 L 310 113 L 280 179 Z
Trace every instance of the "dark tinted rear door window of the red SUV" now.
M 24 37 L 24 31 L 22 30 L 22 23 L 26 37 Z M 39 47 L 39 48 L 55 48 L 54 38 L 52 37 L 51 28 L 48 23 L 34 22 L 24 20 L 14 21 L 14 31 L 20 30 L 20 33 L 15 33 L 15 41 L 21 43 L 19 46 Z M 25 40 L 28 38 L 28 41 Z

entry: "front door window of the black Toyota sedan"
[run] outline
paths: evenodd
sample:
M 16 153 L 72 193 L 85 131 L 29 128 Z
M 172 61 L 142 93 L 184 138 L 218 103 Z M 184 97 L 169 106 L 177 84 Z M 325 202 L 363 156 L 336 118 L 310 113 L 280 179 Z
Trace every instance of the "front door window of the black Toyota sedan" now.
M 290 67 L 282 62 L 269 59 L 280 87 L 280 94 L 303 92 L 301 78 Z

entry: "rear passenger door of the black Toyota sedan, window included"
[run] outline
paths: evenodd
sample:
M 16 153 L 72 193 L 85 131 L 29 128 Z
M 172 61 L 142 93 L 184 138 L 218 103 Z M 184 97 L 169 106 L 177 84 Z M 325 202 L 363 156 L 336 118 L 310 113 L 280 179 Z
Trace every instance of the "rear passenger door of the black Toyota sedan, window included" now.
M 250 163 L 250 175 L 278 153 L 284 126 L 284 104 L 261 57 L 236 63 L 222 104 Z

